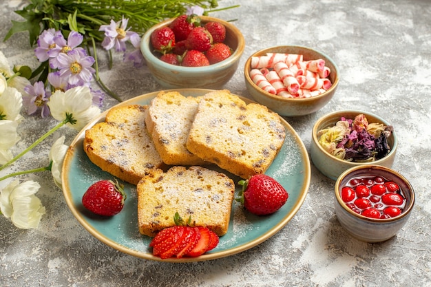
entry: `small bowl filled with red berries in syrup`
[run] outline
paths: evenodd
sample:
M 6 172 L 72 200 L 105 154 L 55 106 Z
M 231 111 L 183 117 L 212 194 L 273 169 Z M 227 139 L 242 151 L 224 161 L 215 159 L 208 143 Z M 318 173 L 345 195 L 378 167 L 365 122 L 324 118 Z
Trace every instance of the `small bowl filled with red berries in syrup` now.
M 348 169 L 335 183 L 335 213 L 357 240 L 383 242 L 406 224 L 414 206 L 414 190 L 400 173 L 366 164 Z

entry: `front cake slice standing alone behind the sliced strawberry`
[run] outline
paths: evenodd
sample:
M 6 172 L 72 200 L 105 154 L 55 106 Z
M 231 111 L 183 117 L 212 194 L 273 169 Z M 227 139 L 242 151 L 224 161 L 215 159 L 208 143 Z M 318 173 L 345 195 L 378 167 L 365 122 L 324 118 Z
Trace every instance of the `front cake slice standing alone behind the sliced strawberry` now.
M 138 227 L 151 237 L 175 226 L 176 212 L 217 235 L 227 233 L 235 184 L 228 176 L 204 167 L 171 167 L 144 176 L 136 187 Z

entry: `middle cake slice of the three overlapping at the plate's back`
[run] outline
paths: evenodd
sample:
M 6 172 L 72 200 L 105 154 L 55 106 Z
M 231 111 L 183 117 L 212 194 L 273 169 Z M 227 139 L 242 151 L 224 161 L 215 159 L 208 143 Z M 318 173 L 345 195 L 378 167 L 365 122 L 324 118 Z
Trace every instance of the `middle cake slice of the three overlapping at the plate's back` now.
M 185 97 L 179 92 L 160 92 L 151 100 L 145 123 L 165 164 L 205 164 L 186 147 L 198 103 L 198 98 Z

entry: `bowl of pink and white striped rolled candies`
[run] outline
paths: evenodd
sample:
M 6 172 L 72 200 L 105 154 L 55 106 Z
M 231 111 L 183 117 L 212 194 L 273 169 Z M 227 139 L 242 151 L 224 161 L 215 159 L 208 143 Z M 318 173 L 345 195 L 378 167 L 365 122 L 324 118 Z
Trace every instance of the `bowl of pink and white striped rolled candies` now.
M 244 65 L 251 96 L 280 116 L 322 109 L 335 94 L 339 72 L 326 54 L 309 47 L 275 46 L 252 54 Z

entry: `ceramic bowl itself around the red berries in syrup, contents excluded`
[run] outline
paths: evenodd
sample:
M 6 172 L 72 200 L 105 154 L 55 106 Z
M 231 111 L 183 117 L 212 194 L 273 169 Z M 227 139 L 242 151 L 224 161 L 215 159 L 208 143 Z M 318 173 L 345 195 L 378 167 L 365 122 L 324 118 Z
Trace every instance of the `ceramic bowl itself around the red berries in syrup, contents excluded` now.
M 397 183 L 406 198 L 400 215 L 386 219 L 375 219 L 360 215 L 350 209 L 341 199 L 340 191 L 353 178 L 382 176 Z M 400 173 L 375 164 L 365 164 L 344 171 L 335 183 L 335 213 L 341 226 L 357 240 L 383 242 L 395 236 L 406 224 L 414 206 L 414 190 L 410 182 Z

